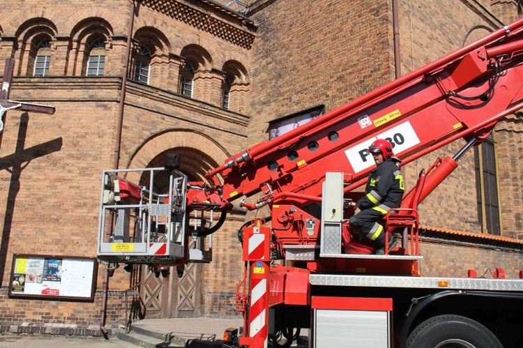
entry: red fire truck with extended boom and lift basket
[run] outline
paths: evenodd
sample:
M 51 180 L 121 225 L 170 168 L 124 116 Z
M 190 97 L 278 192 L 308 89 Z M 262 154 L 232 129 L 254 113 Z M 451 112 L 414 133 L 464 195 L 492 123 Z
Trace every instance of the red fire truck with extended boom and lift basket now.
M 226 331 L 224 346 L 289 347 L 306 328 L 309 347 L 522 347 L 523 279 L 505 279 L 501 268 L 490 279 L 421 276 L 417 209 L 467 150 L 522 108 L 523 19 L 227 158 L 207 182 L 188 182 L 177 156 L 162 168 L 103 172 L 98 258 L 180 272 L 209 261 L 206 236 L 242 198 L 240 206 L 268 206 L 271 216 L 238 233 L 244 325 Z M 374 168 L 375 139 L 391 142 L 402 165 L 464 139 L 386 215 L 388 238 L 401 244 L 385 255 L 348 223 Z M 156 192 L 166 172 L 169 189 Z

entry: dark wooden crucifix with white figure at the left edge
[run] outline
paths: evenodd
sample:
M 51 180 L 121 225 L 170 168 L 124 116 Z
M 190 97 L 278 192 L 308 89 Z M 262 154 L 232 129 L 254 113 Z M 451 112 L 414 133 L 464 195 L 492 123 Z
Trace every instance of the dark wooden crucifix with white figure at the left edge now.
M 22 111 L 39 112 L 42 114 L 54 114 L 54 107 L 39 104 L 30 104 L 9 100 L 10 86 L 13 82 L 13 71 L 15 70 L 15 59 L 6 59 L 6 67 L 3 69 L 2 88 L 0 91 L 0 147 L 2 144 L 3 129 L 6 125 L 6 112 L 10 109 Z

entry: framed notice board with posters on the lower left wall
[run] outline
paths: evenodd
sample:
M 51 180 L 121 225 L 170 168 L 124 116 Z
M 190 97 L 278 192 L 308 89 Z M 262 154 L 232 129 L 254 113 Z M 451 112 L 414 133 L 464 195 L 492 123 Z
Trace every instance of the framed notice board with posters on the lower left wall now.
M 9 297 L 94 301 L 96 257 L 13 255 Z

